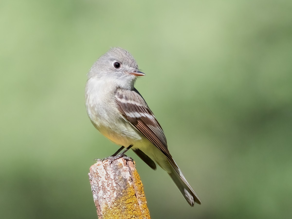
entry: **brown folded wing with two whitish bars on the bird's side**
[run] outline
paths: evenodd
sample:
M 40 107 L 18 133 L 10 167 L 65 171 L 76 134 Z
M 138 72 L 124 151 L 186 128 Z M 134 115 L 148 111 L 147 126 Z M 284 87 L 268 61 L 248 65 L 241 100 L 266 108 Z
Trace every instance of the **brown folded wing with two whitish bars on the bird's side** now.
M 140 93 L 136 89 L 129 91 L 119 88 L 115 98 L 123 117 L 168 159 L 172 160 L 164 132 Z

